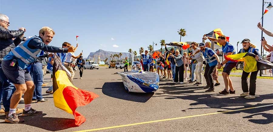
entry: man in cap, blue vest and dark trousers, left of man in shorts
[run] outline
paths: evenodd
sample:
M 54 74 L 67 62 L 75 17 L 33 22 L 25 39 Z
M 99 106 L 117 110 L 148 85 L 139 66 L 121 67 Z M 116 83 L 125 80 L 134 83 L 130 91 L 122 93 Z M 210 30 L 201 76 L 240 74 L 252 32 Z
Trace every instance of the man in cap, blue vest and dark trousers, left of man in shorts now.
M 210 86 L 210 88 L 206 90 L 206 92 L 214 92 L 215 90 L 212 73 L 216 69 L 217 65 L 220 64 L 220 59 L 212 49 L 205 47 L 204 42 L 199 44 L 199 48 L 204 58 L 207 60 L 204 77 L 206 79 L 207 86 Z

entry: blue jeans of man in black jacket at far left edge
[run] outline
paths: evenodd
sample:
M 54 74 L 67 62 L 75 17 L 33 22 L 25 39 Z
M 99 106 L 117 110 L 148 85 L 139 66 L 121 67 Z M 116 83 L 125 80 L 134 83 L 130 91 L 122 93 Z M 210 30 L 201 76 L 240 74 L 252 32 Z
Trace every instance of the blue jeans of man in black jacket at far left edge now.
M 10 107 L 10 99 L 12 97 L 12 93 L 15 91 L 15 86 L 13 83 L 10 83 L 8 81 L 8 78 L 4 74 L 2 70 L 2 66 L 0 64 L 0 104 L 1 104 L 1 98 L 3 97 L 3 106 L 5 108 L 5 112 L 9 111 Z M 1 109 L 1 105 L 0 105 Z

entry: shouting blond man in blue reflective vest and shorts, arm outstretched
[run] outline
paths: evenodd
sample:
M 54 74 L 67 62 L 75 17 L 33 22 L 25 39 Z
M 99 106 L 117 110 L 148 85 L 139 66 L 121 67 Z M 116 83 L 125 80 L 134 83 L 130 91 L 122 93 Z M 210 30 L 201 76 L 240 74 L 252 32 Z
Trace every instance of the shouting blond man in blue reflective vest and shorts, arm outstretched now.
M 73 46 L 69 48 L 48 46 L 54 35 L 55 32 L 51 28 L 43 27 L 39 31 L 39 36 L 33 36 L 32 38 L 26 40 L 4 57 L 2 61 L 3 72 L 16 88 L 10 101 L 10 110 L 5 118 L 5 122 L 24 122 L 24 120 L 19 118 L 15 113 L 22 94 L 24 94 L 25 101 L 25 110 L 23 110 L 22 116 L 38 115 L 42 113 L 42 111 L 36 111 L 35 109 L 31 108 L 31 100 L 35 86 L 27 67 L 39 56 L 42 56 L 43 51 L 74 52 L 75 50 Z

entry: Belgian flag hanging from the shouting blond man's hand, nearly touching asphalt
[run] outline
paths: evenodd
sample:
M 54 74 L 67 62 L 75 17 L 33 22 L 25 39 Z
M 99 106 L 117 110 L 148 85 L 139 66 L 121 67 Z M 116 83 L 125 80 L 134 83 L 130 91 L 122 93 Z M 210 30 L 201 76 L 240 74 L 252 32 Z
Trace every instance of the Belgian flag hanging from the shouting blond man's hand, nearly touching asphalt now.
M 98 95 L 89 91 L 80 90 L 72 84 L 69 71 L 62 65 L 59 56 L 54 57 L 53 63 L 53 99 L 56 107 L 73 114 L 75 124 L 80 126 L 86 119 L 76 111 L 79 106 L 89 104 Z

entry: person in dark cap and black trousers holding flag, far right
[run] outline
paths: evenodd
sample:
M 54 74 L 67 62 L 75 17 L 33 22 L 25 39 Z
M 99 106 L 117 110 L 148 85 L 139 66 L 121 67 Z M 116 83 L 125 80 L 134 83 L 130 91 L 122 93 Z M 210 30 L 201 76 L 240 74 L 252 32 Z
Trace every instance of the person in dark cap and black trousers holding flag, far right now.
M 249 39 L 244 39 L 242 42 L 243 49 L 240 49 L 238 53 L 245 53 L 245 52 L 252 52 L 256 55 L 256 60 L 261 60 L 261 55 L 258 52 L 258 49 L 255 49 L 254 47 L 250 46 L 250 40 Z M 249 91 L 248 91 L 248 75 L 250 73 L 247 73 L 243 70 L 242 73 L 242 90 L 243 93 L 240 94 L 240 96 L 245 96 L 244 98 L 246 99 L 255 99 L 255 91 L 256 91 L 256 79 L 257 79 L 257 74 L 258 70 L 251 72 L 250 75 L 250 85 L 249 85 Z M 249 94 L 248 94 L 249 93 Z

